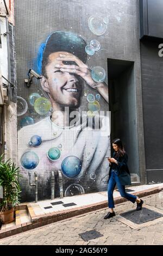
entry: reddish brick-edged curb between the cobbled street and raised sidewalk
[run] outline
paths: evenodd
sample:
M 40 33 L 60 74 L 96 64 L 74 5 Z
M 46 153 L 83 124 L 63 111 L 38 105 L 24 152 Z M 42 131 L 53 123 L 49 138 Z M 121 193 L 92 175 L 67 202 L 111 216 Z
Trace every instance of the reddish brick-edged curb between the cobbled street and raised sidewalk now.
M 133 194 L 137 197 L 146 197 L 151 194 L 159 193 L 162 190 L 163 190 L 163 187 L 157 187 L 157 188 L 150 188 L 148 190 L 135 192 Z M 126 201 L 127 199 L 122 197 L 117 197 L 114 199 L 115 204 L 120 204 Z M 18 233 L 22 233 L 30 229 L 39 228 L 43 225 L 51 224 L 53 222 L 66 220 L 74 216 L 83 215 L 83 214 L 86 214 L 87 212 L 96 211 L 96 210 L 107 208 L 107 207 L 108 207 L 108 201 L 105 200 L 100 203 L 90 204 L 90 205 L 82 206 L 75 209 L 51 212 L 49 214 L 43 214 L 43 215 L 35 215 L 30 205 L 28 207 L 27 205 L 21 205 L 21 206 L 18 206 L 16 210 L 27 209 L 30 215 L 31 221 L 27 223 L 15 225 L 15 227 L 0 230 L 0 239 L 11 236 L 11 235 L 16 235 Z

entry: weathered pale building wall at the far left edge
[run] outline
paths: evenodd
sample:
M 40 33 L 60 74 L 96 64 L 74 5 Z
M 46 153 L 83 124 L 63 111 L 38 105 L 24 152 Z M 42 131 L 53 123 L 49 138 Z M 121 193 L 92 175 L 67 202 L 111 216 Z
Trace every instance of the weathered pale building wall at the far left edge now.
M 0 151 L 17 164 L 14 1 L 0 1 Z

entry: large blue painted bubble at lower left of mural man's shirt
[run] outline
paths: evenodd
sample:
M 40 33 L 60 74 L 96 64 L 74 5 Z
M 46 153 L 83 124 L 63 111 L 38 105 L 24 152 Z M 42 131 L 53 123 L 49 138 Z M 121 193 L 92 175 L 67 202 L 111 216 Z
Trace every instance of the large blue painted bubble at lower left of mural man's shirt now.
M 34 169 L 39 164 L 39 156 L 34 151 L 27 151 L 21 157 L 21 164 L 26 169 Z

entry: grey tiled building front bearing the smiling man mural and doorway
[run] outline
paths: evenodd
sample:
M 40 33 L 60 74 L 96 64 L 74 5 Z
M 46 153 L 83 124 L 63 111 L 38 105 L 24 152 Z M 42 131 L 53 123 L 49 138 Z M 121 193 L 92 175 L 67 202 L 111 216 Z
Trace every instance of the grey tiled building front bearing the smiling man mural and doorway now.
M 158 115 L 154 122 L 151 118 L 162 106 L 161 87 L 157 82 L 154 89 L 152 72 L 147 79 L 152 59 L 159 66 L 162 59 L 158 42 L 140 41 L 141 8 L 147 1 L 141 4 L 15 0 L 22 201 L 35 199 L 34 179 L 39 200 L 105 191 L 105 156 L 111 155 L 116 137 L 128 152 L 133 185 L 163 178 L 162 160 L 152 158 L 159 142 Z M 158 80 L 161 67 L 159 74 Z

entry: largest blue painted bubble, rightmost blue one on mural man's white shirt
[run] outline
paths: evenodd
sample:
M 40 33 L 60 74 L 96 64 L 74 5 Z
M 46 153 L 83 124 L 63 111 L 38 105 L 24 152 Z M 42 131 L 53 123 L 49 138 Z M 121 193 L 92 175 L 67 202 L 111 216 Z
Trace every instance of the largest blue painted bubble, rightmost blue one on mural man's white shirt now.
M 67 156 L 61 164 L 62 172 L 68 178 L 74 178 L 79 175 L 82 169 L 82 162 L 77 156 Z

